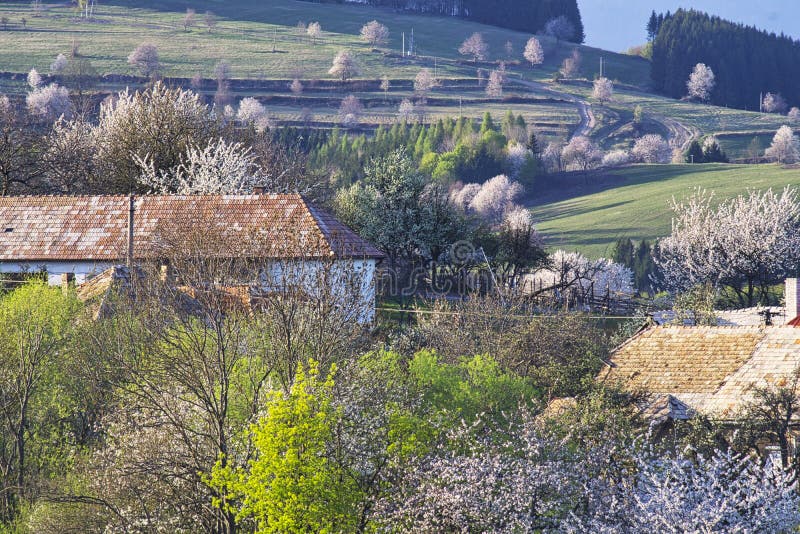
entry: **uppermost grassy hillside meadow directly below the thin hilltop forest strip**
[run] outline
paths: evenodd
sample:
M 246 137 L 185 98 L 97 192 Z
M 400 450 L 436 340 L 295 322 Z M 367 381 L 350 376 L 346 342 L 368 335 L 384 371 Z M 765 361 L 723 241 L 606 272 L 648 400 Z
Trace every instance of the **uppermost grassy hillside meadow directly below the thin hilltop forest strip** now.
M 130 73 L 128 54 L 143 41 L 155 44 L 166 67 L 166 74 L 211 76 L 213 66 L 228 61 L 236 78 L 328 78 L 327 70 L 337 50 L 357 52 L 363 77 L 376 79 L 383 74 L 412 78 L 421 65 L 433 66 L 437 74 L 475 76 L 475 66 L 462 61 L 457 48 L 471 33 L 483 33 L 490 46 L 490 61 L 508 60 L 504 45 L 514 47 L 511 59 L 521 60 L 527 34 L 486 26 L 461 19 L 397 13 L 364 6 L 318 4 L 293 0 L 229 1 L 103 1 L 91 20 L 80 19 L 67 3 L 45 4 L 34 16 L 29 2 L 2 2 L 0 16 L 9 19 L 0 31 L 0 70 L 27 72 L 31 67 L 46 72 L 58 53 L 68 53 L 72 43 L 79 45 L 101 74 Z M 197 11 L 197 26 L 186 32 L 182 26 L 187 6 Z M 203 18 L 212 10 L 218 18 L 216 28 L 207 31 Z M 22 19 L 26 19 L 23 26 Z M 377 19 L 390 29 L 386 50 L 372 51 L 358 38 L 361 26 Z M 297 30 L 299 22 L 319 21 L 323 35 L 313 44 Z M 403 32 L 408 46 L 414 32 L 416 59 L 403 59 Z M 543 68 L 526 74 L 545 76 L 557 68 L 574 47 L 543 38 L 547 53 Z M 273 52 L 273 47 L 275 51 Z M 613 76 L 626 83 L 645 84 L 647 63 L 640 58 L 581 47 L 587 75 L 597 70 L 603 55 Z M 384 52 L 392 52 L 387 55 Z M 530 71 L 530 72 L 528 72 Z

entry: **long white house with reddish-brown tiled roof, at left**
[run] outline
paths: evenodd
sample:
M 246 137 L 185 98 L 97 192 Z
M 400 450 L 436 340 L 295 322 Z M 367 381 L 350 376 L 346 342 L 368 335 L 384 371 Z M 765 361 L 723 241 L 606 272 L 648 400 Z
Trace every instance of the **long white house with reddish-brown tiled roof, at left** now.
M 374 318 L 383 253 L 297 194 L 0 197 L 0 273 L 82 284 L 120 263 L 162 261 L 168 244 L 198 233 L 217 254 L 263 260 L 263 286 L 321 291 L 326 270 L 327 289 L 344 294 L 357 280 L 361 319 Z

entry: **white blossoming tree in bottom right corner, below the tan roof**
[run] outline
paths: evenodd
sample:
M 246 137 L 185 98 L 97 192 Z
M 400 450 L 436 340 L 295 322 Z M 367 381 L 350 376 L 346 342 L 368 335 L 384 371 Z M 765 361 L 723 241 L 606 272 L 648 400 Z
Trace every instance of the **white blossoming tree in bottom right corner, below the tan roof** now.
M 791 532 L 800 524 L 796 483 L 772 463 L 719 450 L 695 461 L 645 451 L 633 460 L 625 492 L 590 497 L 601 501 L 594 514 L 573 516 L 568 532 Z

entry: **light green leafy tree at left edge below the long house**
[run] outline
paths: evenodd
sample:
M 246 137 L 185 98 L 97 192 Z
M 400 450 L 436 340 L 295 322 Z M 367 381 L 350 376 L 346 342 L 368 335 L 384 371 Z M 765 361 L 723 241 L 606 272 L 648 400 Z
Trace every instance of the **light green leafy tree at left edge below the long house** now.
M 10 521 L 20 503 L 34 497 L 38 476 L 47 477 L 53 439 L 66 399 L 62 350 L 70 337 L 77 300 L 44 282 L 30 282 L 0 300 L 0 520 Z

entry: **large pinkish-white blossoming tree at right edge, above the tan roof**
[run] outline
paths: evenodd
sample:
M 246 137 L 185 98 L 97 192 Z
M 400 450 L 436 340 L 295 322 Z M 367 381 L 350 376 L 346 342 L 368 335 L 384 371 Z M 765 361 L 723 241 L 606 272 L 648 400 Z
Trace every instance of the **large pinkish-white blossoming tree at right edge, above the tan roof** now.
M 751 191 L 716 208 L 712 200 L 713 194 L 697 191 L 673 204 L 672 233 L 658 242 L 654 260 L 668 289 L 708 282 L 754 306 L 800 266 L 797 192 Z

